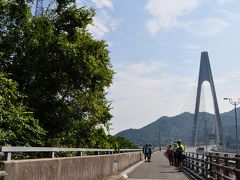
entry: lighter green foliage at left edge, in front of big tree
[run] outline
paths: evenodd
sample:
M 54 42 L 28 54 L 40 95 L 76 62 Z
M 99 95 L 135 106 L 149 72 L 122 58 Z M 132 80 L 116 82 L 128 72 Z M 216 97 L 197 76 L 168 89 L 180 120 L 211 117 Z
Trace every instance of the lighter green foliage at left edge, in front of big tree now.
M 17 83 L 0 73 L 0 145 L 41 145 L 45 131 L 21 103 Z

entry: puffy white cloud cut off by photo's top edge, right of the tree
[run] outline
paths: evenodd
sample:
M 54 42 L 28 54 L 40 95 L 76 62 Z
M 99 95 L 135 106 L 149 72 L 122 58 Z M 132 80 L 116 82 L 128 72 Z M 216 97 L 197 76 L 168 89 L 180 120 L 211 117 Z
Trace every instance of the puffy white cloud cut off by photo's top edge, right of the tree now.
M 199 0 L 148 0 L 145 8 L 152 18 L 146 27 L 152 34 L 159 30 L 171 30 L 181 24 L 179 17 L 191 13 L 198 6 Z

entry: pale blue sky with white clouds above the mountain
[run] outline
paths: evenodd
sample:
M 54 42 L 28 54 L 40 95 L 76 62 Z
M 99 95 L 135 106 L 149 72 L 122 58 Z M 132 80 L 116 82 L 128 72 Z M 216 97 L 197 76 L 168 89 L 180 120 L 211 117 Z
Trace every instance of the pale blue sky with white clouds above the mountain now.
M 220 112 L 233 109 L 223 98 L 240 97 L 239 0 L 77 3 L 96 9 L 89 31 L 109 45 L 111 134 L 193 110 L 202 51 L 209 54 Z M 212 112 L 209 84 L 203 86 L 205 111 Z

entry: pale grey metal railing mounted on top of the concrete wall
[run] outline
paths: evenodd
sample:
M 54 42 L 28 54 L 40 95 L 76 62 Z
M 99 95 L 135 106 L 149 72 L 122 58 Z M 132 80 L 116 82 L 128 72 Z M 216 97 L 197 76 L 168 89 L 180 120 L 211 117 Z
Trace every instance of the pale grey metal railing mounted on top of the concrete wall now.
M 113 154 L 142 151 L 142 149 L 98 149 L 98 148 L 57 148 L 57 147 L 13 147 L 2 146 L 0 148 L 3 160 L 12 160 L 12 153 L 45 153 L 45 157 L 55 158 L 56 153 L 59 152 L 78 152 L 79 156 L 83 156 L 88 152 L 93 152 L 94 155 Z

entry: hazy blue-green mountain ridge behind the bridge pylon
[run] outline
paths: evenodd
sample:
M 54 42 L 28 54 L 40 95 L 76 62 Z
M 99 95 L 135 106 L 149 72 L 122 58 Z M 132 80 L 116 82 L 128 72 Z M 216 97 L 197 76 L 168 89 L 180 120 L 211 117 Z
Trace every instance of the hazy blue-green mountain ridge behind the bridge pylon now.
M 240 125 L 240 108 L 237 108 L 238 128 Z M 224 142 L 231 144 L 235 143 L 235 116 L 234 110 L 222 113 L 221 121 L 224 131 Z M 116 134 L 132 140 L 135 144 L 143 146 L 144 144 L 152 144 L 154 146 L 165 146 L 173 140 L 182 139 L 185 144 L 190 144 L 193 129 L 192 113 L 182 113 L 174 117 L 163 116 L 156 121 L 140 128 L 127 129 Z M 206 142 L 206 134 L 214 133 L 215 115 L 207 112 L 199 113 L 198 136 L 197 142 L 204 144 Z M 207 127 L 207 128 L 206 128 Z M 240 132 L 240 129 L 239 131 Z M 160 138 L 159 138 L 160 137 Z

